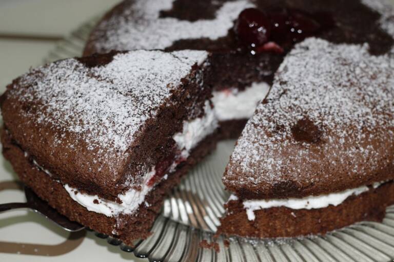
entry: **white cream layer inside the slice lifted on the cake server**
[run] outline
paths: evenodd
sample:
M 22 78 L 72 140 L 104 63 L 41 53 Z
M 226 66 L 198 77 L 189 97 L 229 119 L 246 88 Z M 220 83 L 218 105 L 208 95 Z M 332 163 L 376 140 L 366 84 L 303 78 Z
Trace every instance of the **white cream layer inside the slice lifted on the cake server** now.
M 218 120 L 214 116 L 209 101 L 205 103 L 205 115 L 201 118 L 196 118 L 191 121 L 185 121 L 182 133 L 175 134 L 173 139 L 175 140 L 178 148 L 181 150 L 181 157 L 187 158 L 190 155 L 191 150 L 198 145 L 204 138 L 212 134 L 218 127 Z M 179 162 L 174 161 L 167 173 L 175 171 L 176 166 Z M 64 188 L 70 194 L 70 197 L 78 204 L 86 207 L 89 211 L 101 213 L 106 216 L 116 216 L 118 214 L 132 214 L 137 208 L 145 202 L 146 195 L 154 188 L 154 185 L 150 185 L 149 181 L 155 176 L 154 167 L 147 171 L 143 176 L 143 184 L 141 190 L 129 189 L 123 194 L 119 194 L 117 197 L 122 201 L 121 204 L 100 198 L 98 195 L 86 194 L 78 191 L 69 185 L 64 185 Z M 162 179 L 167 179 L 168 175 Z M 145 205 L 149 204 L 145 202 Z

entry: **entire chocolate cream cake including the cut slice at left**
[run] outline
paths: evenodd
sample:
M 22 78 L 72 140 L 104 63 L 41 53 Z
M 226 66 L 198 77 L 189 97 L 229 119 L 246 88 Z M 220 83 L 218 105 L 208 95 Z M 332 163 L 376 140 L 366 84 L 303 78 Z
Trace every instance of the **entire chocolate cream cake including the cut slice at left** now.
M 218 233 L 379 221 L 394 203 L 393 36 L 384 1 L 124 1 L 87 43 L 85 55 L 105 54 L 8 86 L 4 155 L 61 213 L 127 244 L 241 131 Z M 107 53 L 137 49 L 155 51 Z

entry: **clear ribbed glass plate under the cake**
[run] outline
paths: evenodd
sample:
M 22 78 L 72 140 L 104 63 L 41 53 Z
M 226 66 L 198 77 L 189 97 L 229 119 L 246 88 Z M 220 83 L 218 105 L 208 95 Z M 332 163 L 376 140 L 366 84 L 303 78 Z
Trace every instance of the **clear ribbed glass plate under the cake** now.
M 44 61 L 80 56 L 96 20 L 91 19 L 59 42 Z M 383 223 L 361 222 L 325 236 L 213 239 L 228 199 L 221 178 L 233 146 L 234 141 L 220 142 L 213 154 L 173 190 L 148 239 L 135 242 L 131 248 L 107 235 L 96 235 L 151 261 L 393 261 L 394 206 L 387 208 Z M 218 243 L 220 252 L 200 248 L 204 239 Z

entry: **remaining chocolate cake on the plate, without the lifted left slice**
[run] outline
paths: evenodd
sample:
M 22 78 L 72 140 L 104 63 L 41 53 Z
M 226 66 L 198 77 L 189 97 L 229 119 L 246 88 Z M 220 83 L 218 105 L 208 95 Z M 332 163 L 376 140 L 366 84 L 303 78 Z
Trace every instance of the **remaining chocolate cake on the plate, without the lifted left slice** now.
M 264 205 L 258 200 L 278 199 L 283 202 L 284 198 L 296 200 L 354 188 L 357 190 L 349 195 L 350 199 L 357 201 L 354 195 L 359 194 L 354 192 L 359 192 L 358 187 L 361 186 L 365 191 L 365 185 L 392 179 L 391 68 L 380 68 L 380 65 L 391 63 L 387 54 L 393 48 L 392 14 L 392 7 L 384 1 L 193 3 L 168 0 L 154 7 L 149 5 L 149 1 L 125 1 L 108 12 L 93 30 L 85 53 L 140 48 L 211 51 L 212 70 L 215 76 L 221 76 L 216 82 L 213 81 L 213 103 L 223 137 L 237 136 L 243 129 L 245 119 L 252 116 L 255 102 L 266 94 L 266 91 L 257 90 L 255 86 L 270 86 L 274 73 L 282 64 L 282 70 L 274 80 L 271 97 L 260 104 L 250 119 L 223 178 L 227 189 L 233 191 L 234 195 L 227 205 L 228 215 L 222 220 L 220 231 L 262 237 L 324 233 L 363 219 L 381 218 L 385 206 L 392 203 L 392 198 L 385 201 L 379 199 L 382 203 L 374 203 L 375 208 L 349 210 L 350 213 L 334 210 L 332 216 L 327 216 L 331 219 L 324 223 L 317 213 L 327 215 L 328 209 L 308 210 L 309 216 L 303 214 L 301 217 L 304 217 L 304 221 L 292 220 L 300 223 L 293 226 L 286 226 L 289 222 L 281 220 L 278 214 L 295 214 L 298 209 L 295 211 L 282 205 L 268 205 L 263 210 L 261 206 Z M 293 48 L 295 43 L 311 36 L 326 41 L 311 38 Z M 298 54 L 298 61 L 295 61 L 294 57 Z M 370 61 L 375 57 L 381 60 Z M 358 68 L 356 65 L 360 62 L 370 68 Z M 299 72 L 298 77 L 295 77 L 295 73 L 290 76 L 283 72 L 290 67 L 295 73 Z M 368 93 L 366 89 L 370 86 L 359 82 L 359 76 L 354 76 L 360 74 L 360 70 L 375 72 L 372 76 L 363 76 L 364 81 L 376 80 L 374 90 L 382 92 Z M 345 73 L 348 74 L 347 78 L 341 75 Z M 315 79 L 320 82 L 313 82 Z M 352 83 L 351 91 L 349 86 L 344 86 L 346 81 Z M 388 86 L 378 81 L 385 81 Z M 325 82 L 330 85 L 325 86 Z M 304 85 L 300 86 L 301 83 Z M 250 97 L 256 100 L 248 100 Z M 333 101 L 328 103 L 328 100 Z M 382 106 L 379 113 L 375 108 L 378 102 Z M 368 115 L 368 112 L 373 112 L 373 115 Z M 324 117 L 327 114 L 331 118 Z M 375 114 L 387 119 L 378 123 Z M 242 117 L 239 118 L 240 115 Z M 368 123 L 370 118 L 373 121 Z M 357 125 L 356 120 L 359 120 Z M 372 130 L 368 133 L 367 128 Z M 370 134 L 379 136 L 379 128 L 385 130 L 382 131 L 384 135 L 381 135 L 381 140 L 357 140 L 364 136 L 369 138 Z M 359 137 L 354 137 L 356 134 Z M 348 143 L 348 146 L 357 144 L 357 148 L 344 147 L 343 143 Z M 376 144 L 386 151 L 373 147 Z M 365 149 L 366 145 L 374 149 Z M 363 156 L 362 151 L 365 153 Z M 337 166 L 337 163 L 341 164 Z M 271 166 L 277 169 L 267 170 Z M 377 167 L 373 169 L 372 166 Z M 363 168 L 369 170 L 362 172 Z M 382 185 L 370 191 L 381 191 L 381 188 L 386 187 Z M 320 199 L 316 201 L 321 202 Z M 346 199 L 346 202 L 350 200 Z M 344 206 L 336 208 L 343 210 Z M 275 208 L 279 210 L 273 212 Z M 272 223 L 267 223 L 267 214 L 258 215 L 254 221 L 254 213 L 260 214 L 267 210 L 277 214 L 278 219 L 275 221 L 278 222 L 272 222 L 277 223 L 277 226 L 272 227 Z M 305 210 L 305 207 L 301 210 Z M 345 217 L 352 216 L 352 219 L 339 222 L 339 216 L 335 215 L 339 213 Z M 285 223 L 280 224 L 279 221 Z M 250 225 L 251 228 L 240 232 L 239 227 L 235 226 L 240 223 Z M 308 223 L 310 227 L 300 227 Z M 287 233 L 275 231 L 278 228 L 287 230 Z

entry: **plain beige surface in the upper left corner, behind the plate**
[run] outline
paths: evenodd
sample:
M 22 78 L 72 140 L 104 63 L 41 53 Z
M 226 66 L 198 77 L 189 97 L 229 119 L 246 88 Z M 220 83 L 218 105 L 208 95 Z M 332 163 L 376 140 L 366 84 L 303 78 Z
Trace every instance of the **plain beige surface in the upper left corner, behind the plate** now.
M 0 33 L 66 36 L 119 0 L 0 0 Z M 0 91 L 39 64 L 54 42 L 0 39 Z

